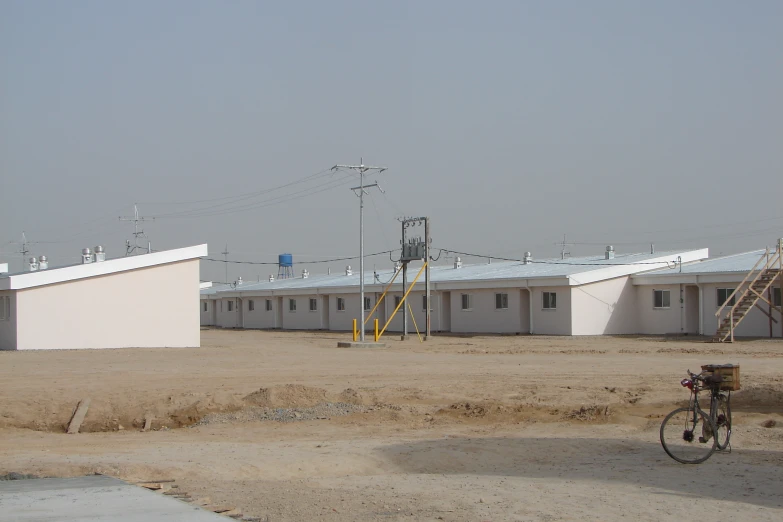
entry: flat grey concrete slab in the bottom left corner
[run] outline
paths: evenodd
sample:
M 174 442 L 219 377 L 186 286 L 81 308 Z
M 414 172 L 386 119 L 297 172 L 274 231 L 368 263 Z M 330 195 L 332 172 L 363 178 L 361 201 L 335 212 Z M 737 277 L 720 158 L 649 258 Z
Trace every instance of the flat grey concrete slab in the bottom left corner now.
M 101 475 L 0 481 L 2 522 L 226 522 L 205 511 Z

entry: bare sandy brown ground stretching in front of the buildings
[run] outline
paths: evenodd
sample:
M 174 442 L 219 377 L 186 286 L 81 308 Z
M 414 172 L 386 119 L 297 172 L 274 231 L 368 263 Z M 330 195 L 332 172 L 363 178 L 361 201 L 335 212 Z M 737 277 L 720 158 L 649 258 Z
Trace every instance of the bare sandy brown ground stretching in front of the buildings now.
M 171 477 L 270 522 L 783 519 L 783 342 L 336 348 L 344 337 L 205 330 L 200 349 L 0 352 L 0 474 Z M 687 399 L 680 379 L 728 362 L 743 383 L 731 453 L 674 462 L 658 428 Z M 85 397 L 87 433 L 66 435 Z M 324 402 L 358 412 L 247 415 Z

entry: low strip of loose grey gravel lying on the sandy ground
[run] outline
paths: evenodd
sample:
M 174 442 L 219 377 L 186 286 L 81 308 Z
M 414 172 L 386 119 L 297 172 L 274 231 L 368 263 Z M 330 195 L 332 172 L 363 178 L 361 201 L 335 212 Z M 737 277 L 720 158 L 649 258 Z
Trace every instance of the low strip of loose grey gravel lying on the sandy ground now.
M 194 424 L 194 426 L 233 422 L 325 420 L 352 413 L 364 413 L 371 409 L 374 408 L 345 402 L 324 402 L 312 408 L 248 408 L 232 413 L 211 413 Z

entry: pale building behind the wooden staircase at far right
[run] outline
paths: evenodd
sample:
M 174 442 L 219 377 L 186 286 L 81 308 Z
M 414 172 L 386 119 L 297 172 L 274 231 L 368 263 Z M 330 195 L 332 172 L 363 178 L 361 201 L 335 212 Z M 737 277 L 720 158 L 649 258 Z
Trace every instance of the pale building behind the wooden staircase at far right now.
M 634 275 L 640 333 L 714 335 L 718 308 L 765 255 L 765 250 L 756 250 Z M 782 287 L 778 276 L 765 292 L 776 307 L 781 306 Z M 783 336 L 781 313 L 765 302 L 757 305 L 739 323 L 735 335 Z

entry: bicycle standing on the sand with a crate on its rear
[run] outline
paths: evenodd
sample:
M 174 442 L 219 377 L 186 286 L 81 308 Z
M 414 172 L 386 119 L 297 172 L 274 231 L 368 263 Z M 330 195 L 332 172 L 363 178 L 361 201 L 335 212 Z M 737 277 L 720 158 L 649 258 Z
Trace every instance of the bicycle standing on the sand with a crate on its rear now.
M 690 403 L 671 412 L 661 423 L 664 451 L 683 464 L 700 464 L 716 451 L 731 451 L 731 391 L 722 390 L 721 373 L 704 373 L 697 375 L 688 370 L 690 378 L 680 384 L 691 390 Z M 709 414 L 699 404 L 699 393 L 704 390 L 710 392 Z

